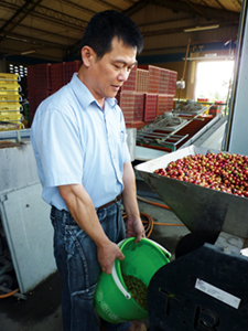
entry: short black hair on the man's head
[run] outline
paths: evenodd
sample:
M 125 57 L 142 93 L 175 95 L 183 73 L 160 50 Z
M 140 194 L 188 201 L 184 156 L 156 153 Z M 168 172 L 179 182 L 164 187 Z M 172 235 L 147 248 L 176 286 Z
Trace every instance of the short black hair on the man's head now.
M 90 19 L 82 40 L 82 47 L 91 47 L 100 60 L 111 51 L 115 36 L 126 46 L 137 47 L 138 54 L 142 51 L 143 39 L 137 24 L 126 14 L 115 10 L 101 11 Z

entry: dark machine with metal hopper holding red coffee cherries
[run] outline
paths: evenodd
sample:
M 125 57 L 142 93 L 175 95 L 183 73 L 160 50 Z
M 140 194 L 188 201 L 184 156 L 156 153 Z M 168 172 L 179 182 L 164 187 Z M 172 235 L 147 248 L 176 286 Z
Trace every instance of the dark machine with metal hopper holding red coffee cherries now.
M 248 199 L 154 173 L 206 152 L 219 151 L 191 146 L 136 167 L 191 232 L 149 285 L 150 331 L 248 330 Z

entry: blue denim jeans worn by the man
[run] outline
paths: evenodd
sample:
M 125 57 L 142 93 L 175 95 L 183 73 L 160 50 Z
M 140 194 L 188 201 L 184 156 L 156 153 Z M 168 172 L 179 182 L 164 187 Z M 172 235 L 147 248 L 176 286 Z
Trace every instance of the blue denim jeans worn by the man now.
M 121 201 L 97 211 L 108 238 L 118 243 L 125 238 Z M 94 309 L 94 292 L 101 268 L 94 241 L 77 225 L 66 211 L 54 206 L 51 211 L 54 226 L 54 256 L 62 278 L 62 316 L 64 331 L 99 331 Z M 109 331 L 127 331 L 130 322 L 111 324 L 100 319 Z

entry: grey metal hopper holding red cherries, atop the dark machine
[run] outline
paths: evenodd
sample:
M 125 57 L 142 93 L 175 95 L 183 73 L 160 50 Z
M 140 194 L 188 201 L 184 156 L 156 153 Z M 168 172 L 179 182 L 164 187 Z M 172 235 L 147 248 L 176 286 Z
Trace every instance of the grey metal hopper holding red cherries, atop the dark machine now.
M 217 237 L 225 232 L 248 238 L 248 199 L 153 173 L 169 162 L 190 154 L 219 150 L 190 146 L 136 166 L 150 188 L 169 205 L 192 233 Z

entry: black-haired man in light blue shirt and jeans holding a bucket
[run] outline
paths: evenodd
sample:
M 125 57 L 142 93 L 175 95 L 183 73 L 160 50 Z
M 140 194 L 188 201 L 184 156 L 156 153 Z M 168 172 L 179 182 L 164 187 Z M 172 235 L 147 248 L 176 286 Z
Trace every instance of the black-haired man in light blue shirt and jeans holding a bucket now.
M 137 241 L 145 236 L 125 120 L 115 99 L 141 50 L 141 33 L 128 17 L 117 11 L 93 17 L 78 74 L 39 106 L 32 124 L 42 196 L 52 205 L 65 331 L 99 330 L 93 299 L 100 269 L 110 274 L 115 259 L 123 259 L 117 243 L 126 229 Z M 145 330 L 137 322 L 101 320 L 101 325 L 109 331 Z

